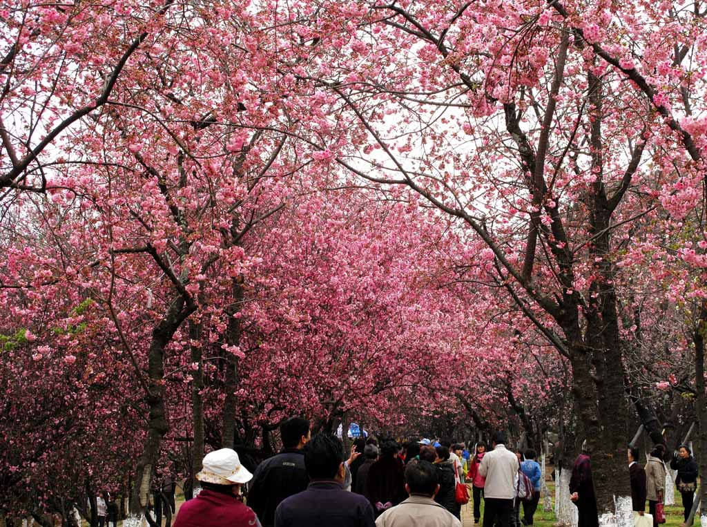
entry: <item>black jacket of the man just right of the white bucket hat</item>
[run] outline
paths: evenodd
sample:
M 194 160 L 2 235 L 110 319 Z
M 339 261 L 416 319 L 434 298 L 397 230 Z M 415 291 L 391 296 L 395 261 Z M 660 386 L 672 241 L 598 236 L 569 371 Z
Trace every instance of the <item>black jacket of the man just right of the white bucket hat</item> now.
M 275 524 L 275 509 L 287 497 L 302 492 L 309 484 L 305 455 L 286 448 L 258 465 L 250 482 L 247 505 L 257 514 L 263 527 Z

